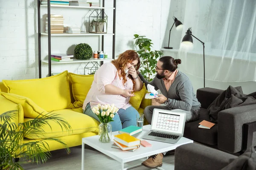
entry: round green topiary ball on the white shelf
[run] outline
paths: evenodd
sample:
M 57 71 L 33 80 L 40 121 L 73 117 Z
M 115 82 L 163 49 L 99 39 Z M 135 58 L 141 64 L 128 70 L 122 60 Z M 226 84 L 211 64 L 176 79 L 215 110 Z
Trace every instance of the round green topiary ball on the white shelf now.
M 74 51 L 74 57 L 76 59 L 90 59 L 93 56 L 93 49 L 86 43 L 80 43 L 76 45 Z

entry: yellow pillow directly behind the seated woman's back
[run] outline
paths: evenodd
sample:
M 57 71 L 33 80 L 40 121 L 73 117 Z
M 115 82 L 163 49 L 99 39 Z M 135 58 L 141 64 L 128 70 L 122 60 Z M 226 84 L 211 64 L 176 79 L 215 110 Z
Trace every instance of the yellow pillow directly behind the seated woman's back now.
M 75 99 L 74 106 L 82 107 L 88 91 L 93 84 L 94 75 L 79 75 L 68 73 L 72 83 L 72 93 Z

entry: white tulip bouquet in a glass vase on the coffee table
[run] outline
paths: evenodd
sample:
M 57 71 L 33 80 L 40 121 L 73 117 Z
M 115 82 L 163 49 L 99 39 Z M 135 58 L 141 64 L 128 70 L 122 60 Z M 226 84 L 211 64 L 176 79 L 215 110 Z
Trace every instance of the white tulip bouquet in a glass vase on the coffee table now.
M 114 104 L 112 105 L 100 105 L 94 106 L 92 108 L 93 113 L 95 113 L 101 124 L 99 125 L 99 141 L 101 142 L 111 142 L 112 127 L 109 122 L 113 122 L 113 117 L 119 108 L 116 108 Z

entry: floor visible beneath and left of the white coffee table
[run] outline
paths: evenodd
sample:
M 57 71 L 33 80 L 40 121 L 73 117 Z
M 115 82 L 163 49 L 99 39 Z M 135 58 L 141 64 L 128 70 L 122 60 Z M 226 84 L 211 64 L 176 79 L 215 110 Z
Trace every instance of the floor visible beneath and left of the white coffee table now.
M 52 151 L 52 157 L 45 164 L 23 164 L 25 170 L 81 170 L 81 146 L 71 147 L 71 153 L 67 155 L 65 150 Z M 121 164 L 92 147 L 85 145 L 85 167 L 84 170 L 119 170 Z M 126 166 L 141 164 L 142 160 L 131 161 Z M 125 167 L 126 167 L 125 166 Z M 174 155 L 163 157 L 163 169 L 174 170 Z M 141 166 L 132 170 L 149 170 Z

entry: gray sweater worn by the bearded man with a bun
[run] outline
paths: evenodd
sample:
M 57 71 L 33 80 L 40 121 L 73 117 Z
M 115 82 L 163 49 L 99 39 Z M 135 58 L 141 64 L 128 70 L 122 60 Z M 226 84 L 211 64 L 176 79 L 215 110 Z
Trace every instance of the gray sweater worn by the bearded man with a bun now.
M 146 87 L 150 84 L 154 86 L 155 90 L 159 89 L 169 99 L 170 108 L 182 109 L 184 111 L 190 111 L 191 108 L 200 109 L 201 104 L 195 96 L 192 83 L 182 72 L 178 71 L 169 91 L 166 90 L 163 79 L 154 77 L 151 82 L 148 82 L 141 74 L 139 74 L 139 77 L 145 83 Z

